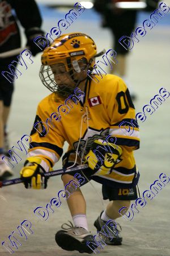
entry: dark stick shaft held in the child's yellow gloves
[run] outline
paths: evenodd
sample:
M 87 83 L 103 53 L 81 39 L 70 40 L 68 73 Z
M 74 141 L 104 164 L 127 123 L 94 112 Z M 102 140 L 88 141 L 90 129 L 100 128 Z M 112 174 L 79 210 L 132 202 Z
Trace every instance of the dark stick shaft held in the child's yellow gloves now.
M 52 176 L 57 176 L 60 174 L 65 174 L 65 173 L 71 173 L 73 171 L 81 171 L 81 170 L 86 170 L 88 168 L 88 164 L 83 164 L 83 166 L 76 166 L 70 169 L 60 169 L 52 172 L 46 172 L 43 176 L 45 177 L 52 177 Z M 11 179 L 11 180 L 4 180 L 0 181 L 0 188 L 8 185 L 14 185 L 14 184 L 19 184 L 23 183 L 24 180 L 22 178 L 16 178 L 16 179 Z

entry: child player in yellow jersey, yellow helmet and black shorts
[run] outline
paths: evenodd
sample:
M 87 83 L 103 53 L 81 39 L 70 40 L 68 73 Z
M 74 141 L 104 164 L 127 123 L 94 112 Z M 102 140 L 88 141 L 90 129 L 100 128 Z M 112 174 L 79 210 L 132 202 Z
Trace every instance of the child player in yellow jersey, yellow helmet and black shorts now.
M 46 188 L 43 172 L 49 172 L 59 160 L 67 141 L 63 168 L 88 163 L 88 170 L 79 172 L 84 184 L 91 179 L 101 183 L 103 199 L 110 200 L 94 225 L 100 231 L 108 220 L 113 220 L 112 240 L 104 235 L 102 239 L 109 245 L 121 245 L 122 237 L 114 220 L 121 217 L 121 207 L 128 210 L 130 200 L 139 197 L 139 172 L 133 155 L 133 150 L 139 148 L 139 130 L 137 122 L 131 122 L 135 110 L 124 81 L 114 75 L 102 79 L 93 74 L 99 80 L 96 83 L 87 76 L 96 55 L 100 54 L 94 40 L 80 32 L 59 36 L 45 48 L 40 78 L 52 94 L 37 107 L 31 149 L 20 174 L 25 188 Z M 75 94 L 79 101 L 75 102 Z M 127 123 L 133 135 L 127 133 Z M 63 174 L 63 185 L 73 180 L 74 174 Z M 74 225 L 56 233 L 57 244 L 64 250 L 92 253 L 86 243 L 93 241 L 93 236 L 87 226 L 86 201 L 79 188 L 67 204 Z

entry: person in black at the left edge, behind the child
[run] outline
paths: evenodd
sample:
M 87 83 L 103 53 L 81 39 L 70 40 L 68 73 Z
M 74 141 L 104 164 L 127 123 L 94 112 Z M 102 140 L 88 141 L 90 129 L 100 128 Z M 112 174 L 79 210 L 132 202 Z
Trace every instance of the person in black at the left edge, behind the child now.
M 15 10 L 13 14 L 12 9 Z M 0 0 L 0 53 L 19 48 L 21 46 L 20 32 L 16 20 L 19 20 L 25 29 L 27 46 L 32 55 L 41 52 L 33 43 L 37 35 L 44 35 L 41 30 L 41 15 L 35 0 Z M 2 76 L 16 56 L 0 59 L 0 180 L 12 175 L 12 170 L 2 161 L 2 156 L 8 151 L 6 123 L 10 112 L 14 82 L 10 83 Z

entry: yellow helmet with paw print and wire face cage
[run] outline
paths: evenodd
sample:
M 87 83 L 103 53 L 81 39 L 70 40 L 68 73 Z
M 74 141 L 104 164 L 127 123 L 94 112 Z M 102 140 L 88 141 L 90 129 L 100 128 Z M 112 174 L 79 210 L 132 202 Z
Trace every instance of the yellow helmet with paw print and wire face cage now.
M 95 64 L 96 53 L 97 49 L 94 40 L 86 34 L 75 32 L 59 36 L 42 53 L 40 69 L 42 83 L 52 92 L 67 96 L 74 92 L 78 84 L 84 80 L 85 76 L 82 76 L 82 80 L 75 79 L 76 73 L 86 72 L 84 74 L 86 74 L 87 79 L 87 70 L 91 69 Z M 81 62 L 83 67 L 79 66 Z M 62 86 L 57 84 L 51 65 L 58 63 L 65 67 L 65 73 L 73 80 L 73 88 L 65 85 L 64 82 Z

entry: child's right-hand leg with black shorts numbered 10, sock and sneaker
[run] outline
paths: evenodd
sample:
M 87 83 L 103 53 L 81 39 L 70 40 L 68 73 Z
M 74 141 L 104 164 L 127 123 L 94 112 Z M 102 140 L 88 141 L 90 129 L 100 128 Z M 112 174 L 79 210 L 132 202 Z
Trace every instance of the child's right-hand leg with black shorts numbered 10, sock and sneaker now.
M 116 220 L 122 215 L 118 212 L 121 207 L 130 207 L 130 201 L 140 197 L 138 185 L 130 189 L 112 188 L 107 185 L 102 186 L 103 199 L 109 199 L 111 201 L 107 208 L 100 213 L 100 216 L 95 221 L 94 225 L 97 231 L 100 231 L 102 227 L 107 223 L 108 220 Z M 124 212 L 124 214 L 126 211 Z M 102 236 L 105 243 L 109 245 L 121 245 L 122 237 L 120 235 L 121 226 L 113 221 L 113 235 L 112 239 L 107 236 Z

